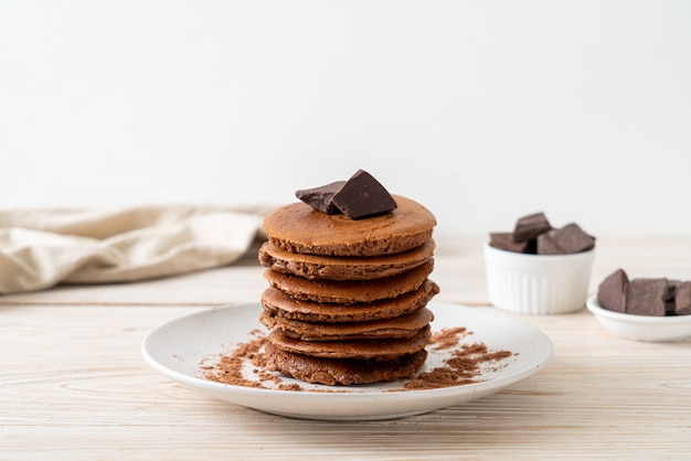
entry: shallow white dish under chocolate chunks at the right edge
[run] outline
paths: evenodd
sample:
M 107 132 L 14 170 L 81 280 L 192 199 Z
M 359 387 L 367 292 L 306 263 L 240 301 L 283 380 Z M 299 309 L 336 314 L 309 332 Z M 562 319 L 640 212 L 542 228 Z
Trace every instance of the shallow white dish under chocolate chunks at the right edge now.
M 691 337 L 691 315 L 635 315 L 599 307 L 597 296 L 588 298 L 586 307 L 600 325 L 623 337 L 638 341 L 679 341 Z

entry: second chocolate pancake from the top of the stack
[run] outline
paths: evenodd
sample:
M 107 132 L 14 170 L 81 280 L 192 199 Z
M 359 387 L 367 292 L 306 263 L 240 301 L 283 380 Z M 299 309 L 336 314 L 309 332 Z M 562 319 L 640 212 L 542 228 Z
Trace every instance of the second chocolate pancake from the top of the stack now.
M 430 260 L 433 239 L 407 251 L 395 255 L 334 257 L 290 253 L 266 242 L 259 248 L 259 262 L 283 274 L 308 279 L 371 280 L 405 272 Z

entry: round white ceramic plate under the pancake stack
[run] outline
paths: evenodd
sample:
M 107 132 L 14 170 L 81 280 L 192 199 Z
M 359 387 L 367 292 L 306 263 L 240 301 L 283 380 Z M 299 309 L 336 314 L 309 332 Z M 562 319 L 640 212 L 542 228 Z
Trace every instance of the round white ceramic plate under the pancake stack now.
M 459 345 L 483 342 L 489 350 L 513 352 L 501 366 L 482 368 L 477 383 L 454 387 L 405 390 L 401 382 L 381 385 L 332 387 L 309 385 L 281 377 L 284 384 L 299 384 L 305 390 L 253 388 L 216 383 L 203 377 L 200 363 L 228 354 L 240 343 L 265 330 L 259 323 L 261 304 L 224 307 L 187 315 L 151 331 L 141 350 L 157 372 L 209 396 L 269 414 L 323 420 L 373 420 L 400 418 L 461 404 L 504 389 L 536 373 L 552 357 L 550 339 L 540 330 L 502 317 L 456 304 L 430 302 L 433 331 L 466 326 L 469 332 Z M 443 355 L 444 354 L 444 355 Z M 449 352 L 429 350 L 421 372 L 442 366 Z M 245 375 L 252 379 L 252 373 Z M 255 377 L 256 379 L 256 377 Z M 333 390 L 333 392 L 310 392 Z

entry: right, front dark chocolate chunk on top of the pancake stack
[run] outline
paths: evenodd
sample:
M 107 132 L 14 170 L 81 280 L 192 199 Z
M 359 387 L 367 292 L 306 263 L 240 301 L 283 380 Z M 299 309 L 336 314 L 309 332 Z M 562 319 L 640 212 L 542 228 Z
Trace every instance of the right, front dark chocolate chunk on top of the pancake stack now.
M 358 170 L 331 201 L 351 219 L 380 215 L 397 206 L 384 186 L 364 170 Z

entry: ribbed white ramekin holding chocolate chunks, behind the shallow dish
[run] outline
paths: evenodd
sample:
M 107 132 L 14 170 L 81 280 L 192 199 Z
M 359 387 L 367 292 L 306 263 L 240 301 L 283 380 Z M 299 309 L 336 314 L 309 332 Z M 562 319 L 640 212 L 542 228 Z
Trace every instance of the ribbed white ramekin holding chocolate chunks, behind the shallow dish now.
M 527 255 L 485 244 L 489 300 L 496 308 L 527 314 L 583 309 L 595 249 L 573 255 Z

